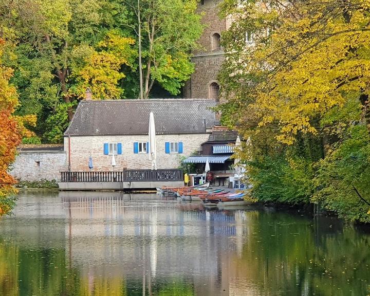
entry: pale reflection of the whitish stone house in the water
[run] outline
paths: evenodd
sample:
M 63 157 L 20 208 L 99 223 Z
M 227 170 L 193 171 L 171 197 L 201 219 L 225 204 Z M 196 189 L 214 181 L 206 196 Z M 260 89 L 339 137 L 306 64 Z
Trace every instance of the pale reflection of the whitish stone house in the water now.
M 245 233 L 245 226 L 237 223 L 243 219 L 237 212 L 181 210 L 176 201 L 157 201 L 148 207 L 117 196 L 105 201 L 63 200 L 72 221 L 70 228 L 66 226 L 72 262 L 93 264 L 96 276 L 109 266 L 110 272 L 140 277 L 138 263 L 144 260 L 145 270 L 152 276 L 158 271 L 161 276 L 194 275 L 197 283 L 213 285 L 220 281 L 222 267 L 215 258 L 241 248 L 229 239 Z

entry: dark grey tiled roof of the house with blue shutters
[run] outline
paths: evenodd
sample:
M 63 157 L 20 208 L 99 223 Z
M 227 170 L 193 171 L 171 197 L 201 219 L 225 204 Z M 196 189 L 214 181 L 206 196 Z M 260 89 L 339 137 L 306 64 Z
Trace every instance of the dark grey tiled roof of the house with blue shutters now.
M 153 112 L 157 134 L 205 133 L 216 123 L 213 100 L 83 100 L 65 136 L 147 135 Z

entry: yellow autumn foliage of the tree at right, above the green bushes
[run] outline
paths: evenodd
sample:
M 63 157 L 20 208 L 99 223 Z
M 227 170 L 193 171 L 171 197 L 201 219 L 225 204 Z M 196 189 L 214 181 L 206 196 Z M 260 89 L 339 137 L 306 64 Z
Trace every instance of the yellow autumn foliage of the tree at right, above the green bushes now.
M 243 103 L 257 120 L 257 131 L 273 125 L 276 139 L 292 144 L 298 133 L 317 133 L 312 120 L 342 107 L 348 94 L 357 93 L 367 109 L 369 3 L 225 1 L 224 15 L 233 25 L 224 37 L 224 76 L 229 85 L 245 84 L 233 88 L 235 100 L 241 103 L 248 93 L 250 101 Z

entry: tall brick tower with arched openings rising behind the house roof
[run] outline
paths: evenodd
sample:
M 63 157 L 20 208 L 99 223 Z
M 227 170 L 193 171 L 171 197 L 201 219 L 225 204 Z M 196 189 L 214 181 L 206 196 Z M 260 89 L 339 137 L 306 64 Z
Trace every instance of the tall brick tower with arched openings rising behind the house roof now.
M 224 51 L 220 46 L 222 32 L 227 29 L 227 21 L 218 17 L 218 5 L 222 0 L 202 0 L 198 13 L 202 13 L 205 29 L 199 43 L 202 49 L 194 52 L 192 62 L 195 71 L 184 87 L 186 98 L 206 98 L 219 102 L 219 82 L 217 74 L 224 61 Z

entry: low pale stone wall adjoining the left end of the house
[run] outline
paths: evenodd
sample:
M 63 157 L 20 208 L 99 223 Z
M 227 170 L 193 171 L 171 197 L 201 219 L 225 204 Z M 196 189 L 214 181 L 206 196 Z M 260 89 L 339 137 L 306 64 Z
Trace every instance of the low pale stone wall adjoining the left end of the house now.
M 10 174 L 21 181 L 60 180 L 60 172 L 65 171 L 66 153 L 64 151 L 19 152 Z

